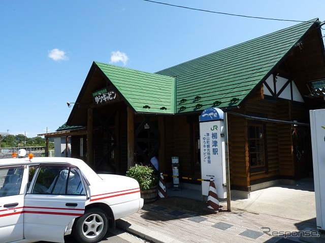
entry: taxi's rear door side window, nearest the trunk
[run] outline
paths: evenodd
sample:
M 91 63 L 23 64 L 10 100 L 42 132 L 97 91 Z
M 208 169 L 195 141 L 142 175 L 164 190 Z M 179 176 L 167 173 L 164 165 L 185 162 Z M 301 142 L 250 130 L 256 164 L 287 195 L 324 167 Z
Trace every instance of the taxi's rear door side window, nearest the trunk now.
M 41 166 L 33 194 L 85 194 L 78 169 L 68 166 Z

